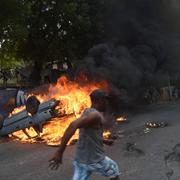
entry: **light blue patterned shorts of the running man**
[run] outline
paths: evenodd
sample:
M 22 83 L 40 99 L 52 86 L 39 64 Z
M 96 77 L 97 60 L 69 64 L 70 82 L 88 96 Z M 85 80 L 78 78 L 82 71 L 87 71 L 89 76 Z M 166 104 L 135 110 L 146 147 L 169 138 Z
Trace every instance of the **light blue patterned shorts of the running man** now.
M 117 163 L 107 156 L 98 163 L 83 164 L 74 161 L 73 165 L 75 167 L 73 180 L 89 180 L 92 173 L 98 173 L 108 178 L 115 178 L 120 175 Z

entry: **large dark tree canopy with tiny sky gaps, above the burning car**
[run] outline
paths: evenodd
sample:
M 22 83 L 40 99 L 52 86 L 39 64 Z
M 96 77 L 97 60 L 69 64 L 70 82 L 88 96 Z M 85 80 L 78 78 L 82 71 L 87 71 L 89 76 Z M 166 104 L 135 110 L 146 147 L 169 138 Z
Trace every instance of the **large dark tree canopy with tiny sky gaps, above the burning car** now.
M 26 1 L 28 37 L 21 44 L 24 58 L 39 61 L 80 59 L 102 39 L 101 1 Z

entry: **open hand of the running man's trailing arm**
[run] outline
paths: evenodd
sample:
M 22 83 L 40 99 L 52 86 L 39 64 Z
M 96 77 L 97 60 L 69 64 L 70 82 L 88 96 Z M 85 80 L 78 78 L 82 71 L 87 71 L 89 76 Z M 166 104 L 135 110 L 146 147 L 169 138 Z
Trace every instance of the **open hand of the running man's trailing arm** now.
M 60 164 L 62 164 L 62 153 L 57 151 L 54 157 L 49 160 L 49 167 L 51 170 L 57 170 Z

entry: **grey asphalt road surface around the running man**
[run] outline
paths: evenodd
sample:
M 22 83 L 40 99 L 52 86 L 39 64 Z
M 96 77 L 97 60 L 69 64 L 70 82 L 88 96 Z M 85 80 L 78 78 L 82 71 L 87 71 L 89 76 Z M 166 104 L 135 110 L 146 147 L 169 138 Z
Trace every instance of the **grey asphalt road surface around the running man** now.
M 149 121 L 166 121 L 165 128 L 145 130 Z M 119 138 L 107 155 L 116 160 L 121 180 L 180 180 L 180 104 L 151 106 L 118 125 Z M 69 146 L 63 165 L 48 168 L 56 148 L 44 144 L 0 143 L 0 180 L 70 180 L 75 146 Z M 93 175 L 92 180 L 105 180 Z

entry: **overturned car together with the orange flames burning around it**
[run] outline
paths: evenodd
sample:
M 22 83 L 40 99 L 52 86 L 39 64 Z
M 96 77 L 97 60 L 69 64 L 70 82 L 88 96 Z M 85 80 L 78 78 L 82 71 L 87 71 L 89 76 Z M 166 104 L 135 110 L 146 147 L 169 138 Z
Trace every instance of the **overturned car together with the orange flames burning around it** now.
M 69 124 L 91 106 L 89 94 L 97 89 L 107 89 L 106 82 L 80 83 L 61 77 L 47 94 L 29 94 L 25 106 L 15 108 L 0 124 L 0 136 L 9 136 L 23 143 L 46 143 L 56 146 Z M 117 122 L 125 118 L 118 118 Z M 76 142 L 78 132 L 71 139 Z M 110 131 L 104 139 L 113 139 Z M 109 141 L 110 142 L 110 141 Z

